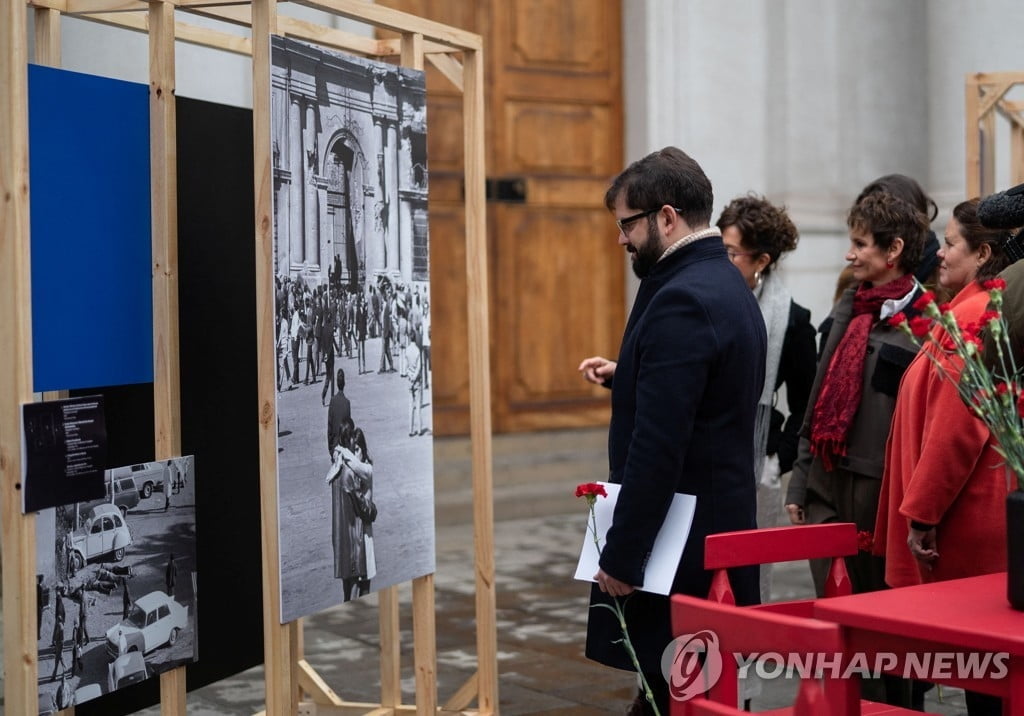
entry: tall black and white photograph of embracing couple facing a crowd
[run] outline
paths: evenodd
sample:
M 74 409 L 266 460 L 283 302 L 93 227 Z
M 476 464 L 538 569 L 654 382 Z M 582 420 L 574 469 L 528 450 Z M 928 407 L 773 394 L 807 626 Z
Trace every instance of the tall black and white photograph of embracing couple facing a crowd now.
M 287 623 L 434 572 L 426 85 L 271 47 Z

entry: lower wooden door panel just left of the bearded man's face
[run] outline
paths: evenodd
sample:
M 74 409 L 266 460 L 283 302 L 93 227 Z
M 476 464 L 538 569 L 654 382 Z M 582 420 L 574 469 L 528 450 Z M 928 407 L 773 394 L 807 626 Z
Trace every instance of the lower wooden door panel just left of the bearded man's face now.
M 493 342 L 505 391 L 500 414 L 519 429 L 607 420 L 607 391 L 584 382 L 577 366 L 596 352 L 614 355 L 617 347 L 607 303 L 622 284 L 608 255 L 614 224 L 591 209 L 503 205 L 497 213 L 515 237 L 494 256 L 503 317 Z

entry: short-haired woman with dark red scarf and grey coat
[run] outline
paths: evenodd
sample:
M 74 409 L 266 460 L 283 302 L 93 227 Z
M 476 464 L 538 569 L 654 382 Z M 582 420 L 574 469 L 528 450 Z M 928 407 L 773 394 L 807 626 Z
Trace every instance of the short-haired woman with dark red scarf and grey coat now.
M 833 308 L 822 338 L 785 503 L 797 524 L 855 522 L 858 531 L 873 532 L 896 392 L 916 354 L 888 319 L 914 312 L 913 270 L 928 218 L 901 199 L 872 194 L 853 205 L 847 224 L 846 260 L 857 283 Z M 859 552 L 847 558 L 847 567 L 854 592 L 885 587 L 881 557 Z M 812 563 L 811 571 L 820 594 L 824 565 Z

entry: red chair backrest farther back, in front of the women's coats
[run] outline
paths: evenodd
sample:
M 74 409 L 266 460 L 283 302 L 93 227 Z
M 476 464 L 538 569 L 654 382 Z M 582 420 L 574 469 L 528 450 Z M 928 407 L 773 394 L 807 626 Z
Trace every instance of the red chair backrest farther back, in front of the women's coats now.
M 853 522 L 802 524 L 792 528 L 766 528 L 723 532 L 705 538 L 705 568 L 714 570 L 708 598 L 735 604 L 729 575 L 733 566 L 751 566 L 797 559 L 830 558 L 831 566 L 825 582 L 825 596 L 851 594 L 853 589 L 846 571 L 847 557 L 857 553 L 857 525 Z M 806 602 L 792 602 L 791 607 L 775 610 L 809 615 Z

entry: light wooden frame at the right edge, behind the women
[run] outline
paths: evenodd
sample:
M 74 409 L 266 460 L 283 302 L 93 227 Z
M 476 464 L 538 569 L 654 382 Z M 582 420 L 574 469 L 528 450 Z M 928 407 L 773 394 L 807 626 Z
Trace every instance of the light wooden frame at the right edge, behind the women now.
M 1024 84 L 1024 72 L 967 76 L 967 196 L 985 197 L 995 187 L 995 118 L 1010 122 L 1010 183 L 1024 181 L 1024 101 L 1007 93 Z

